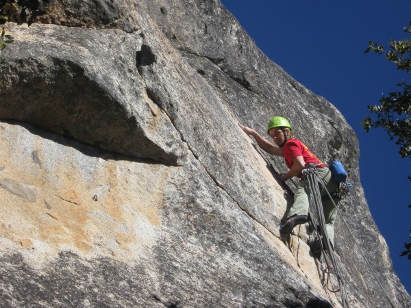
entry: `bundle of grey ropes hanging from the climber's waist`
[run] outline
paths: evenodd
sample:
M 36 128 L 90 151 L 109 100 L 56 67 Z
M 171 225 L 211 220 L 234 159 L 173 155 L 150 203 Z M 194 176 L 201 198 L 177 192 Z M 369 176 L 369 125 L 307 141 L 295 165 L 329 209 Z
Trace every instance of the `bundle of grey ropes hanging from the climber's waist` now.
M 308 167 L 303 170 L 303 176 L 306 179 L 308 183 L 308 188 L 310 189 L 310 196 L 312 200 L 314 201 L 314 209 L 312 211 L 315 212 L 315 215 L 310 215 L 312 219 L 316 219 L 317 222 L 319 222 L 319 229 L 316 229 L 316 238 L 319 240 L 319 244 L 321 246 L 321 251 L 327 266 L 325 268 L 322 268 L 323 270 L 323 278 L 321 279 L 321 283 L 323 286 L 327 286 L 327 289 L 331 292 L 340 292 L 341 293 L 341 301 L 343 302 L 343 307 L 344 308 L 349 308 L 349 303 L 348 303 L 348 296 L 347 292 L 345 290 L 345 282 L 343 279 L 343 275 L 341 274 L 338 264 L 336 262 L 336 257 L 334 255 L 334 248 L 332 247 L 331 242 L 329 241 L 328 235 L 327 235 L 327 229 L 325 227 L 325 218 L 324 218 L 324 211 L 323 211 L 323 204 L 321 201 L 321 190 L 320 190 L 320 185 L 322 186 L 322 189 L 325 189 L 325 184 L 323 183 L 323 180 L 319 175 L 316 173 L 316 169 L 313 167 Z M 327 191 L 327 194 L 329 198 L 332 199 L 331 194 Z M 334 201 L 333 201 L 334 202 Z M 325 254 L 325 251 L 327 254 Z M 328 257 L 327 257 L 328 255 Z M 331 281 L 330 276 L 332 274 L 335 274 L 336 279 L 338 281 L 338 288 L 330 288 L 329 283 Z

